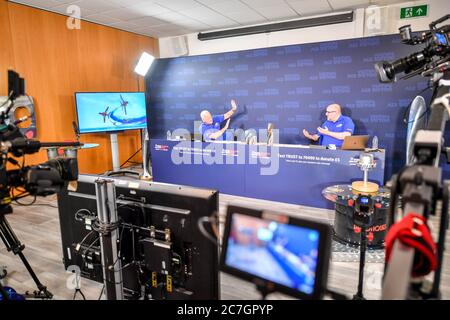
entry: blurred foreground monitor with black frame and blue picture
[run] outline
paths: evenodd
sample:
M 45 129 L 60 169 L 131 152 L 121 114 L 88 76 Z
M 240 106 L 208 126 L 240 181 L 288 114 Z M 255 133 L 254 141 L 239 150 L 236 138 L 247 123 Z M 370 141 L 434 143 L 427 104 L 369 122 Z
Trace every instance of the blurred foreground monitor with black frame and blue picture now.
M 330 251 L 331 229 L 326 224 L 228 207 L 221 268 L 269 292 L 321 299 Z

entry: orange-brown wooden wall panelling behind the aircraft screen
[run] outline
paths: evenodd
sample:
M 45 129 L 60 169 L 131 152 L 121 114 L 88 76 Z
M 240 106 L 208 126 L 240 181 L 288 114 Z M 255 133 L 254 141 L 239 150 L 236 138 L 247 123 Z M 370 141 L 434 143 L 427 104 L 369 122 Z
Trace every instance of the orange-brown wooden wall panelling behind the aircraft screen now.
M 14 35 L 13 61 L 35 99 L 39 140 L 75 138 L 74 92 L 137 91 L 138 81 L 144 89 L 133 68 L 142 51 L 156 54 L 155 39 L 85 21 L 80 30 L 70 30 L 66 16 L 14 3 L 7 9 Z M 82 135 L 81 141 L 100 147 L 79 152 L 80 172 L 112 169 L 109 135 Z M 119 146 L 123 162 L 140 148 L 139 131 L 119 134 Z M 140 153 L 135 160 L 139 159 Z M 27 156 L 28 164 L 45 160 L 45 151 Z

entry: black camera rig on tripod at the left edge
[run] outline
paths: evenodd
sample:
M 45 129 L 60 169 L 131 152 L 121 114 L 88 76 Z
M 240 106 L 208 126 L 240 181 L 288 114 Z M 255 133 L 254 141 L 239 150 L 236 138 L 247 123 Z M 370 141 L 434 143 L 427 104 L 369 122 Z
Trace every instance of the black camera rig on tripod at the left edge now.
M 38 290 L 32 298 L 51 299 L 52 293 L 47 290 L 36 276 L 31 265 L 25 258 L 25 246 L 19 241 L 13 229 L 6 220 L 6 215 L 13 212 L 11 203 L 27 196 L 48 196 L 67 187 L 69 181 L 78 179 L 78 164 L 75 158 L 52 159 L 34 166 L 25 166 L 24 156 L 39 151 L 42 147 L 80 146 L 79 142 L 40 142 L 27 139 L 17 127 L 21 121 L 12 123 L 9 119 L 10 110 L 14 106 L 15 98 L 24 95 L 24 80 L 15 72 L 8 72 L 9 97 L 0 106 L 0 238 L 8 251 L 18 255 L 27 271 L 33 278 Z M 20 163 L 14 157 L 22 157 Z M 8 170 L 10 164 L 18 169 Z M 16 194 L 16 192 L 19 192 Z M 5 275 L 4 275 L 5 276 Z M 0 283 L 0 300 L 10 298 L 8 290 Z M 28 296 L 28 293 L 26 293 Z

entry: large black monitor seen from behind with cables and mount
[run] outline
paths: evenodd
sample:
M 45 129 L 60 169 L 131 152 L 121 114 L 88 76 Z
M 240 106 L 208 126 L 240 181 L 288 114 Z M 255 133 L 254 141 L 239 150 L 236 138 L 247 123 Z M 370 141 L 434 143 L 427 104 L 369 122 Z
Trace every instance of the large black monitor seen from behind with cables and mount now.
M 80 218 L 97 211 L 99 177 L 80 175 L 76 191 L 58 194 L 58 206 L 65 267 L 78 266 L 83 277 L 103 282 L 98 234 Z M 128 177 L 103 178 L 116 186 L 118 251 L 127 299 L 144 298 L 143 287 L 155 300 L 219 299 L 218 246 L 198 226 L 200 218 L 217 212 L 219 193 Z M 213 232 L 209 224 L 204 227 Z

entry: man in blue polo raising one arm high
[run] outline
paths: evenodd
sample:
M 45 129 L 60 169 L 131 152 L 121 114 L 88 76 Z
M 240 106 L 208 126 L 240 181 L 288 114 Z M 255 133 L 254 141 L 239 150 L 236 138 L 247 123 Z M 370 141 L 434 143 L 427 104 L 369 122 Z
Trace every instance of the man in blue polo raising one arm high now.
M 235 100 L 231 100 L 231 110 L 225 114 L 212 116 L 208 110 L 203 110 L 200 113 L 202 124 L 200 125 L 200 133 L 204 141 L 210 140 L 224 140 L 224 133 L 230 124 L 230 118 L 236 113 L 237 105 Z M 228 120 L 225 126 L 221 129 L 220 124 Z

